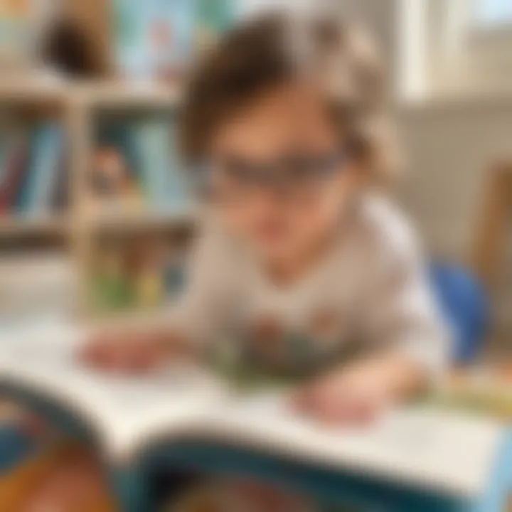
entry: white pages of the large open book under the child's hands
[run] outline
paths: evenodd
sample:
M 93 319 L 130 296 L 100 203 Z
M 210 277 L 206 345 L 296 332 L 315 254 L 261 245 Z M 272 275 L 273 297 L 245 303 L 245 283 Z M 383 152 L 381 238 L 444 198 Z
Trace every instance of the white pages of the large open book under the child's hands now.
M 497 422 L 432 407 L 395 411 L 363 430 L 328 429 L 294 415 L 285 393 L 240 395 L 199 368 L 141 378 L 97 373 L 75 357 L 82 341 L 69 326 L 1 335 L 0 392 L 69 411 L 117 464 L 156 439 L 197 439 L 471 497 L 488 483 L 504 437 Z

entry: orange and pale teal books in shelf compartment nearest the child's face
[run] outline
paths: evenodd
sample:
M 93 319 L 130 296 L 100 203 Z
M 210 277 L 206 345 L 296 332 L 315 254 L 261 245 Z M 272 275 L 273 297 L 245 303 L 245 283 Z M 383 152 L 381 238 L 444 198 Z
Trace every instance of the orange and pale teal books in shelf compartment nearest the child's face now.
M 97 210 L 183 210 L 189 201 L 178 165 L 174 121 L 107 122 L 97 132 L 90 188 Z

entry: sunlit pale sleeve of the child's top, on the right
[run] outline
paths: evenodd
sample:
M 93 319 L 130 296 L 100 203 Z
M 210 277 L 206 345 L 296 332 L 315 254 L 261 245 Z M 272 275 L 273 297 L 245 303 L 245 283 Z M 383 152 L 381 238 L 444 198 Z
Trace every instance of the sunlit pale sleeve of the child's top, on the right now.
M 385 231 L 373 260 L 363 307 L 370 343 L 405 354 L 437 380 L 449 361 L 449 331 L 412 230 L 400 226 Z

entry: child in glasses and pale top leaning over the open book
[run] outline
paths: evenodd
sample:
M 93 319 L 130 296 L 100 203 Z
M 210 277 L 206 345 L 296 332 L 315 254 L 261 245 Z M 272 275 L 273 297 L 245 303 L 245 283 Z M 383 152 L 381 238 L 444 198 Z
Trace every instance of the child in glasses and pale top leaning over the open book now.
M 394 170 L 383 73 L 331 18 L 272 15 L 230 33 L 191 79 L 183 156 L 203 193 L 188 290 L 164 330 L 83 356 L 142 371 L 233 338 L 242 361 L 299 380 L 294 405 L 367 422 L 442 372 L 420 250 L 383 195 Z

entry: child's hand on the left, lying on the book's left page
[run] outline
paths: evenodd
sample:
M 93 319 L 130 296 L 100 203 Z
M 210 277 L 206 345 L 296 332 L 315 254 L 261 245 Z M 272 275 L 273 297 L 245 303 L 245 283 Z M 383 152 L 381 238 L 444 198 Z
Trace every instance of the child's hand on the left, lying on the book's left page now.
M 90 366 L 124 373 L 147 373 L 174 357 L 191 355 L 191 345 L 185 338 L 162 332 L 96 336 L 80 353 Z

